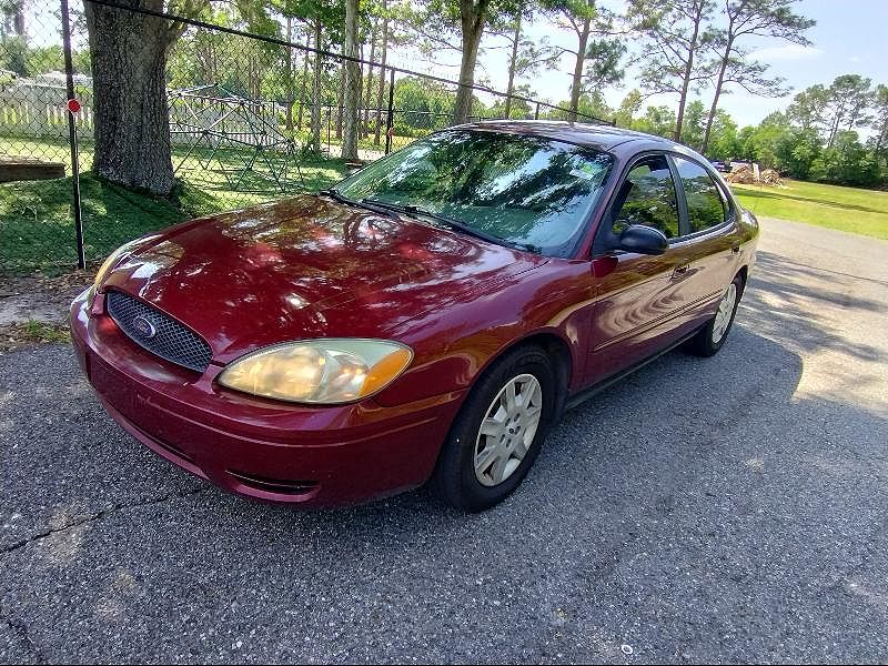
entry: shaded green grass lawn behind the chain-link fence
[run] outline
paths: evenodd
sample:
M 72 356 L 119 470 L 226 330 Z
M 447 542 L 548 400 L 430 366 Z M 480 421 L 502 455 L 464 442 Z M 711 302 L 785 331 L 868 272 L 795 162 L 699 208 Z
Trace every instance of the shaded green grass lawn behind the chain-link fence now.
M 68 162 L 67 143 L 0 138 L 0 153 Z M 173 151 L 180 185 L 171 199 L 140 194 L 85 172 L 81 174 L 83 239 L 88 261 L 99 261 L 139 235 L 202 214 L 316 191 L 339 181 L 340 160 L 300 160 L 275 182 L 269 170 L 249 163 L 250 151 Z M 89 143 L 81 145 L 81 164 L 92 164 Z M 70 168 L 69 168 L 70 173 Z M 71 208 L 71 179 L 0 183 L 0 273 L 57 272 L 77 265 Z

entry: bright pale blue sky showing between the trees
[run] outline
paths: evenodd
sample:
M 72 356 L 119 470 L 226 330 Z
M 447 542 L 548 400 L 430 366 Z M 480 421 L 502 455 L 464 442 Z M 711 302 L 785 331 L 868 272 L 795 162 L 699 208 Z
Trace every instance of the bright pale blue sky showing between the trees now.
M 605 0 L 605 3 L 617 9 L 619 6 L 617 0 Z M 793 92 L 784 98 L 759 98 L 744 91 L 723 97 L 719 107 L 727 110 L 740 127 L 757 124 L 769 113 L 785 110 L 796 92 L 815 83 L 829 84 L 840 74 L 859 73 L 872 79 L 874 84 L 888 84 L 888 0 L 800 0 L 796 11 L 817 21 L 807 32 L 814 42 L 810 47 L 775 40 L 749 42 L 756 57 L 770 63 L 769 74 L 784 77 Z M 571 46 L 573 33 L 558 31 L 551 23 L 537 20 L 528 27 L 527 34 L 534 39 L 547 36 L 552 44 Z M 485 52 L 478 58 L 481 68 L 476 78 L 486 77 L 493 88 L 505 90 L 508 53 L 505 48 L 495 47 L 496 43 L 488 40 Z M 529 83 L 534 97 L 541 99 L 568 99 L 573 71 L 569 58 L 566 57 L 557 70 L 541 72 L 519 83 Z M 453 79 L 458 74 L 458 59 L 440 58 L 435 64 L 420 63 L 415 57 L 398 60 L 398 64 L 428 73 Z M 608 103 L 618 105 L 626 92 L 636 87 L 637 71 L 628 71 L 622 88 L 607 91 Z M 704 90 L 698 97 L 708 109 L 712 90 Z M 646 103 L 673 105 L 677 100 L 674 97 L 654 97 Z

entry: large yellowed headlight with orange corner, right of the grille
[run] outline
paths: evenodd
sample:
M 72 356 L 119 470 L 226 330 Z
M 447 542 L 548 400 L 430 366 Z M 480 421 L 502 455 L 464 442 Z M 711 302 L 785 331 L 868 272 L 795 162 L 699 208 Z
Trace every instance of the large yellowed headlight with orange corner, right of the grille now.
M 412 360 L 411 349 L 397 342 L 307 340 L 248 354 L 225 367 L 219 383 L 275 400 L 337 404 L 381 391 Z

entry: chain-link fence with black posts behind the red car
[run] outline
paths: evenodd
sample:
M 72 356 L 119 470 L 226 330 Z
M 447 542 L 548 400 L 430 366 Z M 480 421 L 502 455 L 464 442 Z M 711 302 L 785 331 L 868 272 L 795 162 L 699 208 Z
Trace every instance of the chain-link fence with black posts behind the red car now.
M 62 0 L 63 1 L 63 0 Z M 105 44 L 127 49 L 120 59 L 150 63 L 162 40 L 165 70 L 151 77 L 95 67 L 88 39 L 83 0 L 64 6 L 10 2 L 0 18 L 0 274 L 65 271 L 78 264 L 73 195 L 79 167 L 82 252 L 95 262 L 143 233 L 198 214 L 242 208 L 316 191 L 345 173 L 340 159 L 344 120 L 345 59 L 311 21 L 236 16 L 211 4 L 196 19 L 85 0 L 105 20 L 140 24 L 141 40 Z M 98 14 L 92 14 L 98 16 Z M 71 30 L 65 67 L 62 27 Z M 97 19 L 93 19 L 97 20 Z M 260 23 L 254 26 L 253 23 Z M 261 29 L 261 30 L 260 30 Z M 262 33 L 260 33 L 262 32 Z M 453 123 L 457 83 L 359 59 L 361 89 L 359 158 L 375 160 L 417 138 Z M 150 64 L 145 64 L 150 67 Z M 68 84 L 80 109 L 67 108 Z M 145 105 L 127 115 L 97 110 L 102 87 L 142 99 L 145 85 L 162 109 Z M 105 94 L 105 98 L 111 97 Z M 121 95 L 117 95 L 120 99 Z M 552 104 L 473 89 L 470 120 L 504 118 L 566 119 Z M 71 141 L 69 117 L 73 118 Z M 603 122 L 577 114 L 577 120 Z M 133 141 L 135 123 L 154 128 L 157 144 L 131 147 L 151 155 L 168 142 L 172 196 L 152 196 L 99 178 L 94 162 L 97 124 L 105 141 Z M 102 163 L 108 173 L 113 164 Z M 169 170 L 170 164 L 159 169 Z

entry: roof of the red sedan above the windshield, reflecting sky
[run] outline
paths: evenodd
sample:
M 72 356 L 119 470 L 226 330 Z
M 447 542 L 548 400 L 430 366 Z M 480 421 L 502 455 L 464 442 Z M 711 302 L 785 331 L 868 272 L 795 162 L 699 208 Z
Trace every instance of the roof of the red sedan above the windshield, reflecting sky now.
M 607 124 L 592 124 L 585 122 L 568 122 L 558 120 L 484 120 L 460 125 L 460 129 L 483 130 L 488 132 L 507 132 L 511 134 L 529 134 L 545 139 L 555 139 L 575 143 L 601 151 L 626 143 L 628 141 L 645 141 L 648 144 L 656 144 L 660 150 L 675 150 L 685 152 L 687 149 L 674 141 L 626 130 Z M 654 145 L 652 145 L 654 148 Z

